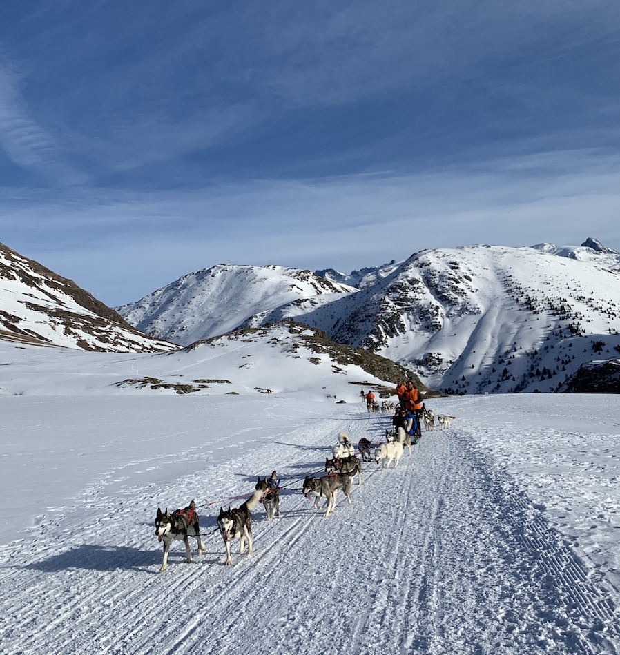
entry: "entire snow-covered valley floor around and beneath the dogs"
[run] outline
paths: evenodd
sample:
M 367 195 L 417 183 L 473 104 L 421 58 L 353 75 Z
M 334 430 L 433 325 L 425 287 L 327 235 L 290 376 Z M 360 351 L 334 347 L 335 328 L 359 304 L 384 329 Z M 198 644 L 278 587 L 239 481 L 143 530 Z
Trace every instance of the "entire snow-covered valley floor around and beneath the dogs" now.
M 324 517 L 302 478 L 340 431 L 378 442 L 389 416 L 365 411 L 354 367 L 277 352 L 0 344 L 1 653 L 620 653 L 617 396 L 429 400 L 452 427 L 396 469 L 365 464 Z M 113 384 L 226 369 L 239 395 Z M 282 516 L 256 509 L 253 555 L 234 542 L 226 567 L 220 505 L 273 469 Z M 174 542 L 159 573 L 157 507 L 192 498 L 206 551 L 192 539 L 188 564 Z

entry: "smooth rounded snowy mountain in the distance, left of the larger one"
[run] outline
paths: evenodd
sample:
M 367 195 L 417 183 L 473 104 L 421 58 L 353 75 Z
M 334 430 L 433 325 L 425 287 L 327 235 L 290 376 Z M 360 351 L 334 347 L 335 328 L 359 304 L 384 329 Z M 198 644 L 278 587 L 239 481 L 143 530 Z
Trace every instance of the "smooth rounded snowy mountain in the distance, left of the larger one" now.
M 352 287 L 284 266 L 218 264 L 189 273 L 117 311 L 137 329 L 188 346 L 231 332 L 258 313 L 307 297 L 339 297 Z

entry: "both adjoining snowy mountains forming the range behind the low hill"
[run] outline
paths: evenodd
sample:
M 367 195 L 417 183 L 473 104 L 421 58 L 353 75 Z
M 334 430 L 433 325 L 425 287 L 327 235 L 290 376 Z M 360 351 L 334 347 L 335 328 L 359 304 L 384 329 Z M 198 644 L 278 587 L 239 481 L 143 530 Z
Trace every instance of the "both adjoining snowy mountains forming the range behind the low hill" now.
M 148 320 L 138 321 L 130 306 L 119 313 L 138 329 L 182 344 L 233 326 L 293 319 L 453 393 L 561 390 L 581 364 L 620 349 L 620 253 L 596 239 L 581 246 L 427 250 L 348 277 L 328 269 L 320 273 L 356 289 L 317 284 L 320 295 L 296 289 L 289 302 L 273 289 L 285 271 L 281 284 L 293 293 L 287 289 L 293 269 L 267 267 L 272 275 L 259 276 L 255 267 L 214 268 L 211 279 L 225 284 L 204 284 L 193 273 L 131 306 Z

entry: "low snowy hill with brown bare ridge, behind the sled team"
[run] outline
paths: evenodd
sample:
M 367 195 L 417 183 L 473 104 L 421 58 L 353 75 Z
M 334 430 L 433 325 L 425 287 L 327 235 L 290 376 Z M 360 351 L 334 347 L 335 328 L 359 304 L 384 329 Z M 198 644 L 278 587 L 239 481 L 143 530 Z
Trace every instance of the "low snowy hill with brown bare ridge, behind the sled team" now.
M 351 402 L 359 398 L 358 384 L 393 388 L 407 377 L 394 362 L 331 344 L 316 332 L 278 324 L 166 353 L 88 353 L 0 341 L 0 395 L 255 395 L 303 389 L 308 400 L 336 402 L 338 396 Z

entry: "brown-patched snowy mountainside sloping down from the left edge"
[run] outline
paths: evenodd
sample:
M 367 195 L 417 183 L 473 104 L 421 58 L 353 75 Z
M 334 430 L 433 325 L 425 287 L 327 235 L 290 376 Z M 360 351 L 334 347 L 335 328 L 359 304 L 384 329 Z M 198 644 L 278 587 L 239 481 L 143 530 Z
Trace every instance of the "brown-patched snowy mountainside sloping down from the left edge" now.
M 139 333 L 113 309 L 0 244 L 0 335 L 90 351 L 150 352 L 173 344 Z

